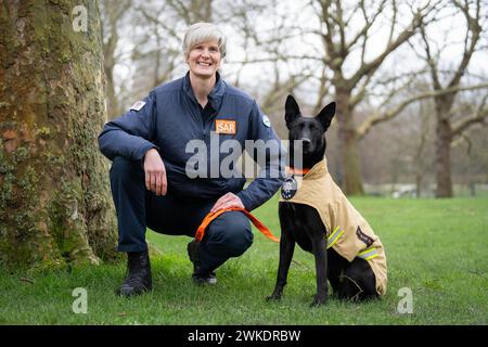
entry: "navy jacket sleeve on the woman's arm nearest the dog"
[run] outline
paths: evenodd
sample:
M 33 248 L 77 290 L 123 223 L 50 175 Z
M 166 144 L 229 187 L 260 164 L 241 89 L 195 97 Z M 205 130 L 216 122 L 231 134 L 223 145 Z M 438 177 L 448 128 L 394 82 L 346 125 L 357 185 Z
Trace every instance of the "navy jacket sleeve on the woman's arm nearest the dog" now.
M 280 139 L 256 102 L 253 103 L 251 112 L 248 138 L 254 140 L 254 146 L 251 151 L 246 146 L 246 151 L 261 169 L 249 185 L 236 195 L 251 211 L 266 203 L 281 187 L 285 158 L 285 150 Z

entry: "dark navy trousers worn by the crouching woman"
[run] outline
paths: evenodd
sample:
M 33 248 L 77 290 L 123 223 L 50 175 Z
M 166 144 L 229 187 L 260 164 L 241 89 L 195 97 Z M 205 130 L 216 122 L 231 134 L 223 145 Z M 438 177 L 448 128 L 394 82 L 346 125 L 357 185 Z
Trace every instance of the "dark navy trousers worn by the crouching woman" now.
M 120 156 L 112 164 L 111 188 L 117 210 L 119 252 L 147 249 L 146 228 L 163 234 L 193 237 L 217 201 L 179 198 L 169 192 L 164 196 L 155 195 L 145 188 L 141 163 Z M 241 256 L 252 243 L 251 223 L 243 213 L 220 215 L 208 226 L 202 240 L 201 271 L 213 271 L 227 259 Z

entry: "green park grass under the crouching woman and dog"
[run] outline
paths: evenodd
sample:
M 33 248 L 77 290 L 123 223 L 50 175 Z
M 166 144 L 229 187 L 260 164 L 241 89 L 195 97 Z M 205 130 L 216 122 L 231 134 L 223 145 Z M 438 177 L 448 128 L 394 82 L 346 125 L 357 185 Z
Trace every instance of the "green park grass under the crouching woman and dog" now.
M 278 245 L 255 230 L 253 246 L 217 272 L 215 286 L 195 286 L 189 237 L 149 232 L 154 291 L 114 295 L 125 264 L 44 273 L 0 270 L 0 324 L 487 324 L 488 198 L 352 198 L 382 237 L 388 292 L 364 304 L 330 299 L 310 308 L 313 257 L 297 247 L 280 303 L 266 303 L 278 268 Z M 277 198 L 255 215 L 279 234 Z M 88 291 L 88 313 L 75 314 L 75 287 Z M 413 313 L 397 312 L 398 291 L 411 288 Z

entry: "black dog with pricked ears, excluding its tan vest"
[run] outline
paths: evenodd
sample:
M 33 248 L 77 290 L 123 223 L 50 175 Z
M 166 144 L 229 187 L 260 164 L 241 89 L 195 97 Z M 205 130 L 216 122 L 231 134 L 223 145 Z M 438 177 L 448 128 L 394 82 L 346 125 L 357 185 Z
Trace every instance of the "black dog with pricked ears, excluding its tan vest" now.
M 326 105 L 316 117 L 303 117 L 292 95 L 288 95 L 285 104 L 286 127 L 290 130 L 290 166 L 295 174 L 312 168 L 324 159 L 325 131 L 331 125 L 335 114 L 335 102 Z M 303 165 L 297 162 L 298 144 L 303 146 Z M 300 167 L 301 166 L 301 167 Z M 331 282 L 334 295 L 343 299 L 361 300 L 377 296 L 375 274 L 368 260 L 354 257 L 348 260 L 341 256 L 333 247 L 328 249 L 328 232 L 316 208 L 293 202 L 286 202 L 296 190 L 296 182 L 287 177 L 282 188 L 282 200 L 279 205 L 281 224 L 280 265 L 274 292 L 267 299 L 280 299 L 283 287 L 286 284 L 287 272 L 292 261 L 295 243 L 307 252 L 313 254 L 317 271 L 317 295 L 312 306 L 324 304 L 328 297 L 328 279 Z M 304 177 L 304 180 L 307 177 Z M 295 188 L 293 185 L 295 184 Z M 335 185 L 335 184 L 334 184 Z M 342 192 L 341 192 L 342 194 Z M 360 232 L 360 234 L 358 233 Z M 371 246 L 373 237 L 365 235 L 358 227 L 358 237 L 364 242 L 362 245 Z M 356 236 L 355 236 L 356 237 Z M 376 243 L 375 243 L 376 244 Z M 374 248 L 374 247 L 373 247 Z M 371 248 L 371 249 L 373 249 Z M 377 248 L 375 248 L 377 249 Z M 384 255 L 382 253 L 382 255 Z M 385 262 L 386 275 L 386 262 Z

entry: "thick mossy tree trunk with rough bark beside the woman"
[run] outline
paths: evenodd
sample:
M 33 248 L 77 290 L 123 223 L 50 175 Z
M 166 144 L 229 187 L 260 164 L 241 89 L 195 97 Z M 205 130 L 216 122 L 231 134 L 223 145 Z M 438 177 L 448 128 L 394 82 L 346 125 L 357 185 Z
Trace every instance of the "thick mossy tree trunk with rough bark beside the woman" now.
M 77 5 L 86 31 L 75 30 Z M 5 0 L 0 27 L 0 264 L 113 258 L 116 220 L 97 143 L 106 119 L 99 9 Z

